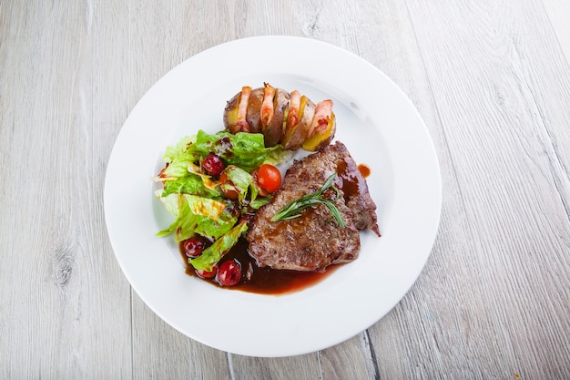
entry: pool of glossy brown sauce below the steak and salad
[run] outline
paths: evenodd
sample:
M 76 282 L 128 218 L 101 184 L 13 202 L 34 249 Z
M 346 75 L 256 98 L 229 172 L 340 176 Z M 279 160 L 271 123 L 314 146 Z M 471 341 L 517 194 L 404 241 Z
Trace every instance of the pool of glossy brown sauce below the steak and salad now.
M 222 287 L 218 282 L 211 279 L 202 279 L 198 277 L 194 268 L 188 264 L 186 254 L 182 244 L 179 245 L 180 254 L 186 264 L 186 273 L 196 277 L 202 281 L 209 282 L 213 285 Z M 248 252 L 248 241 L 241 239 L 222 259 L 235 260 L 241 266 L 241 282 L 235 286 L 224 288 L 231 290 L 239 290 L 242 292 L 259 293 L 259 294 L 285 294 L 298 292 L 308 288 L 334 272 L 339 265 L 331 265 L 324 273 L 319 272 L 300 272 L 300 271 L 278 271 L 270 268 L 258 267 L 255 259 Z

